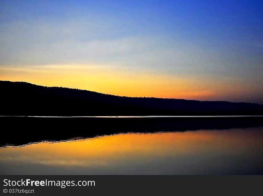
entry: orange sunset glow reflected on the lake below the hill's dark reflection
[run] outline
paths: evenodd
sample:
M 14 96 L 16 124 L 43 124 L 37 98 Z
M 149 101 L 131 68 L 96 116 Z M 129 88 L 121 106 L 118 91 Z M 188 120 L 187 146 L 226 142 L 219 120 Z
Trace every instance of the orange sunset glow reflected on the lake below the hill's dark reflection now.
M 252 130 L 252 131 L 251 131 Z M 262 150 L 259 128 L 168 133 L 130 133 L 77 141 L 38 143 L 0 149 L 1 165 L 23 162 L 57 166 L 144 164 L 182 156 L 248 154 Z

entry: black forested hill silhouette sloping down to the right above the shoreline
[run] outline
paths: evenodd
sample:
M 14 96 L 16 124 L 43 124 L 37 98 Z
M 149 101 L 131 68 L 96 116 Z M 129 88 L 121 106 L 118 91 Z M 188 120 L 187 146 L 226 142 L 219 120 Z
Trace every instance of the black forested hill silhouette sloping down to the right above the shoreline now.
M 0 81 L 0 115 L 135 116 L 262 115 L 263 105 L 153 97 L 120 97 L 87 90 Z

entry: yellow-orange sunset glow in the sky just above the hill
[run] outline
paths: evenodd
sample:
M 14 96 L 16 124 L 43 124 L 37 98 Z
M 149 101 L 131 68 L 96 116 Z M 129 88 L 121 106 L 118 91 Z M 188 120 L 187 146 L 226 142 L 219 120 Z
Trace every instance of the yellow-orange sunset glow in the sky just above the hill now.
M 231 96 L 246 95 L 253 91 L 246 87 L 249 84 L 240 88 L 240 81 L 235 78 L 170 75 L 100 65 L 2 66 L 0 80 L 78 88 L 129 97 L 227 100 Z

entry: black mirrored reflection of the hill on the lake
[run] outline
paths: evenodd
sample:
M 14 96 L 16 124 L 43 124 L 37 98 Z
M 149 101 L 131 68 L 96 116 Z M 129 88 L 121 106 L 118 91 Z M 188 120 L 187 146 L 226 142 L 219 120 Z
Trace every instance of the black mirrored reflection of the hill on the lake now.
M 263 117 L 0 117 L 0 146 L 68 141 L 126 132 L 171 132 L 263 126 Z

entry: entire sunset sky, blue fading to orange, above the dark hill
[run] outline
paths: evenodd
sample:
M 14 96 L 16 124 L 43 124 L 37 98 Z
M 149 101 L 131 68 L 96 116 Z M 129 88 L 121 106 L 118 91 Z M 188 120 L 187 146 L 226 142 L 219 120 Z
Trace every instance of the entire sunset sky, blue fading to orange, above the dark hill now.
M 0 1 L 0 80 L 263 104 L 263 1 Z

